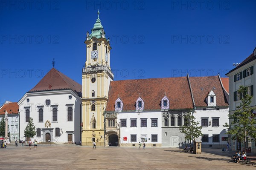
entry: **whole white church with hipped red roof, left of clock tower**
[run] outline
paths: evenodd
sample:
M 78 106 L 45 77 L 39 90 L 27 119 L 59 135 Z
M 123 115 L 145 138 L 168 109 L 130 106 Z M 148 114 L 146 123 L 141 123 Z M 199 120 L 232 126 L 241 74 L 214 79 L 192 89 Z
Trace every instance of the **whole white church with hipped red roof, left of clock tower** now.
M 18 104 L 21 137 L 24 137 L 31 117 L 36 128 L 34 138 L 38 142 L 50 140 L 80 144 L 80 84 L 52 68 L 33 89 L 26 92 Z

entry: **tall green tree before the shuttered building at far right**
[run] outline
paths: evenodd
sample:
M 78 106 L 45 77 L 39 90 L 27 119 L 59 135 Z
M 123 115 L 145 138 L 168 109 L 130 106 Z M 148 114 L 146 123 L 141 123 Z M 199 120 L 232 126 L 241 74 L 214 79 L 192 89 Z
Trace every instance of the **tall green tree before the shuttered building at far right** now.
M 244 147 L 246 142 L 256 139 L 256 115 L 253 114 L 253 108 L 250 107 L 252 96 L 248 93 L 248 87 L 239 86 L 241 103 L 233 114 L 229 114 L 230 125 L 225 123 L 223 126 L 228 127 L 227 134 L 232 135 L 232 139 L 243 141 Z M 247 138 L 250 137 L 250 138 Z M 245 150 L 246 153 L 246 150 Z

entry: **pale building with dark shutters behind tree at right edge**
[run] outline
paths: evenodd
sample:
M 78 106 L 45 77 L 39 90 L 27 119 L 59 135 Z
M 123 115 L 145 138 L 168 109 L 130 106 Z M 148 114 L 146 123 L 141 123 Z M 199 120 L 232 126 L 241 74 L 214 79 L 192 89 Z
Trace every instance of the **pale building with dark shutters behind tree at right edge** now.
M 256 48 L 253 53 L 244 61 L 239 63 L 236 68 L 230 70 L 226 75 L 229 77 L 229 114 L 236 111 L 236 107 L 241 103 L 240 95 L 238 94 L 239 86 L 247 86 L 248 94 L 253 96 L 250 107 L 256 107 Z M 253 111 L 256 113 L 256 110 Z M 231 137 L 231 136 L 230 136 Z M 231 147 L 233 150 L 242 150 L 241 141 L 232 141 Z M 256 153 L 256 143 L 247 142 L 246 147 L 251 148 L 251 152 Z

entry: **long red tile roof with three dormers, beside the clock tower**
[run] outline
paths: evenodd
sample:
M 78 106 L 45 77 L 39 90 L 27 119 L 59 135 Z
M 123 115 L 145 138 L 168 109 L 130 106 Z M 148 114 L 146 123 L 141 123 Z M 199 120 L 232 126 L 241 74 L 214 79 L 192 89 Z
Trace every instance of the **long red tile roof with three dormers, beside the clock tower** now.
M 193 108 L 188 80 L 186 77 L 179 77 L 111 81 L 105 111 L 115 110 L 118 95 L 124 103 L 123 110 L 135 110 L 135 103 L 140 95 L 145 103 L 144 110 L 160 110 L 165 92 L 170 100 L 170 109 Z

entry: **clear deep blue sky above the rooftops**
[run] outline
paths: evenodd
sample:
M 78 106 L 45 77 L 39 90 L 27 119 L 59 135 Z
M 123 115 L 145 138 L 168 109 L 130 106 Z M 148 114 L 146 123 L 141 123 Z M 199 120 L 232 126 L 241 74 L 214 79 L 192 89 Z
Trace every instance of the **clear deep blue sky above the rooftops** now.
M 0 104 L 52 68 L 81 84 L 86 32 L 100 20 L 114 80 L 225 77 L 256 47 L 256 1 L 0 1 Z

